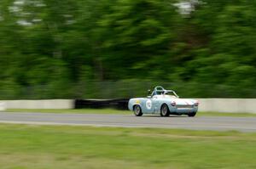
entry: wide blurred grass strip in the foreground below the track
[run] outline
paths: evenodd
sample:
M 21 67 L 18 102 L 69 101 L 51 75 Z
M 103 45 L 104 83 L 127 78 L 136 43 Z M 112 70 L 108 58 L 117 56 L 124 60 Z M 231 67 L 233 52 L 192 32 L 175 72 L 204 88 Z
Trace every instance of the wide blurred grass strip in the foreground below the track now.
M 256 133 L 0 125 L 1 169 L 256 168 Z

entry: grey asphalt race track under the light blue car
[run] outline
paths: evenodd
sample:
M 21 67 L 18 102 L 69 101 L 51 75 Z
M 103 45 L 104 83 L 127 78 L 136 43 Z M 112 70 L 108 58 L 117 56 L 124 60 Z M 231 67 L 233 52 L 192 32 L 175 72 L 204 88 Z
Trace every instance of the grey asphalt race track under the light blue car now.
M 1 123 L 256 132 L 256 117 L 0 113 Z

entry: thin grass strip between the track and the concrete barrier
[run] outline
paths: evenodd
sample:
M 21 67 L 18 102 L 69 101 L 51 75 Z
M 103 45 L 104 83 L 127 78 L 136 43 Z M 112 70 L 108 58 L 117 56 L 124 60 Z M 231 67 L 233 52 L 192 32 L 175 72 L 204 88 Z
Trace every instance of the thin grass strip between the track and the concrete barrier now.
M 83 113 L 83 114 L 116 114 L 131 115 L 129 110 L 113 110 L 113 109 L 78 109 L 78 110 L 28 110 L 28 109 L 11 109 L 8 112 L 39 112 L 39 113 Z M 249 113 L 218 113 L 218 112 L 198 112 L 197 116 L 256 116 Z

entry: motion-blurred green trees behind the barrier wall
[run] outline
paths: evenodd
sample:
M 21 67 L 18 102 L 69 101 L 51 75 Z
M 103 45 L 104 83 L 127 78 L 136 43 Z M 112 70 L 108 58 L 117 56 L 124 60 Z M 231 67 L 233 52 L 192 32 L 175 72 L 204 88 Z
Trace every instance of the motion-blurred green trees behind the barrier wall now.
M 248 0 L 1 0 L 0 99 L 255 98 L 255 28 Z

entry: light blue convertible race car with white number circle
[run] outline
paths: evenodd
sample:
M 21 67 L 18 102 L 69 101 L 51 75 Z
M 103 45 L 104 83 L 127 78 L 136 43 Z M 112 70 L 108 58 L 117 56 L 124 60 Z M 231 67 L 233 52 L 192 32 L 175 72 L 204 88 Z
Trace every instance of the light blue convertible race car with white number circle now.
M 151 93 L 148 90 L 148 93 Z M 169 115 L 189 115 L 195 116 L 199 102 L 195 99 L 179 99 L 173 90 L 166 90 L 164 87 L 154 87 L 154 91 L 147 98 L 130 99 L 129 110 L 134 111 L 134 115 L 160 114 Z

